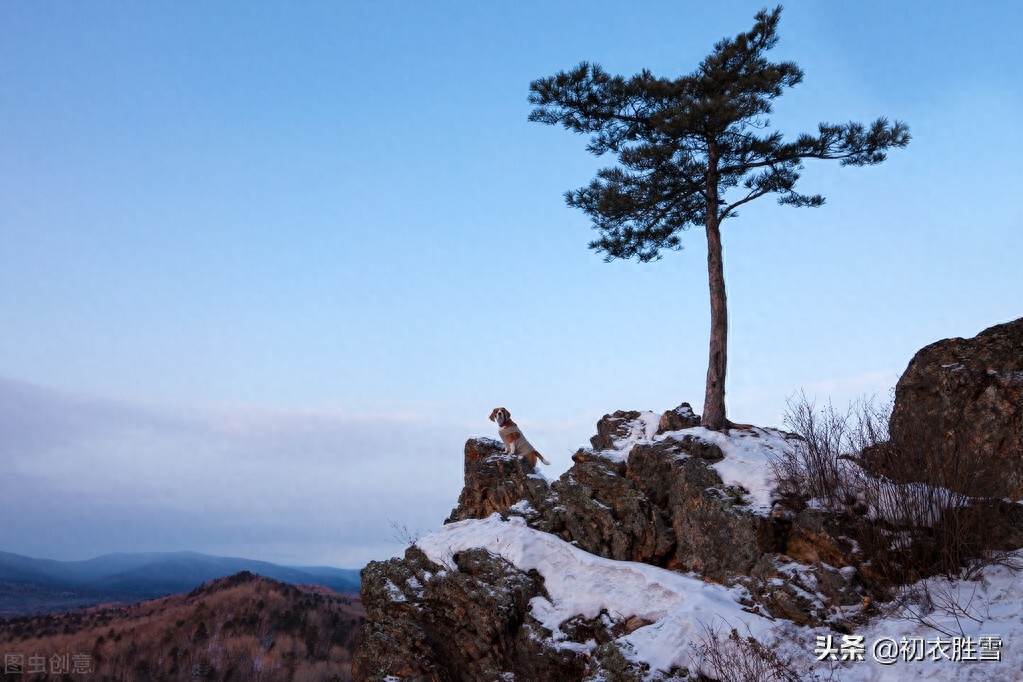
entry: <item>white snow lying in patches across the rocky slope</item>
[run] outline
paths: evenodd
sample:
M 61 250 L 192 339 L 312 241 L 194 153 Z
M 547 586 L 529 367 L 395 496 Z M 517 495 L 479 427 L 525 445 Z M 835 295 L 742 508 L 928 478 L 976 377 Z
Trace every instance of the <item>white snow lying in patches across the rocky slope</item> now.
M 727 435 L 686 428 L 655 436 L 660 415 L 644 412 L 630 422 L 629 433 L 602 456 L 627 460 L 636 443 L 697 436 L 721 448 L 725 457 L 713 464 L 726 485 L 749 491 L 750 507 L 770 509 L 772 456 L 792 447 L 782 431 L 732 429 Z M 873 621 L 851 635 L 798 627 L 744 608 L 742 587 L 708 583 L 646 563 L 615 561 L 585 552 L 560 538 L 530 529 L 519 517 L 450 524 L 415 543 L 434 562 L 454 569 L 452 555 L 485 548 L 522 571 L 543 576 L 549 600 L 530 603 L 533 617 L 551 632 L 548 644 L 589 652 L 594 642 L 570 642 L 561 626 L 581 616 L 613 620 L 639 617 L 651 622 L 619 638 L 623 653 L 649 664 L 650 679 L 673 667 L 694 670 L 698 647 L 710 629 L 726 634 L 736 628 L 752 635 L 806 680 L 880 682 L 896 680 L 995 680 L 1023 682 L 1023 575 L 992 566 L 975 582 L 930 579 L 928 608 L 905 610 Z M 1017 553 L 1023 561 L 1023 550 Z M 954 612 L 953 612 L 954 611 Z

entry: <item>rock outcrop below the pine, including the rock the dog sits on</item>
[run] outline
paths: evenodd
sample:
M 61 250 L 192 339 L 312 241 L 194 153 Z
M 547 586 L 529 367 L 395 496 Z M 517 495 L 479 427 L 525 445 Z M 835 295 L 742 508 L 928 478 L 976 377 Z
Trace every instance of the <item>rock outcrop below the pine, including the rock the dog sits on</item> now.
M 749 509 L 739 486 L 711 466 L 721 448 L 693 434 L 642 441 L 653 420 L 619 411 L 597 422 L 597 449 L 576 453 L 576 464 L 547 484 L 527 462 L 490 439 L 465 444 L 465 486 L 445 522 L 521 515 L 591 554 L 694 571 L 723 581 L 746 575 L 765 552 L 780 549 L 775 519 Z M 696 417 L 699 421 L 699 417 Z M 664 423 L 661 419 L 661 423 Z M 669 422 L 670 423 L 670 422 Z

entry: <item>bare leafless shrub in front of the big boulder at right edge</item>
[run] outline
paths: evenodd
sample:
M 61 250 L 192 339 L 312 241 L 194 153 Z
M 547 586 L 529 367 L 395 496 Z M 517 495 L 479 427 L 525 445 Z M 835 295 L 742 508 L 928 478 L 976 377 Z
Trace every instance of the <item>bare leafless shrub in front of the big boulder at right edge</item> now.
M 1019 519 L 1013 505 L 988 497 L 998 472 L 962 451 L 922 452 L 917 444 L 927 438 L 911 428 L 892 443 L 891 407 L 864 398 L 842 413 L 802 392 L 791 398 L 786 424 L 802 441 L 772 462 L 780 493 L 839 516 L 878 597 L 928 576 L 970 578 L 992 563 L 1013 565 Z

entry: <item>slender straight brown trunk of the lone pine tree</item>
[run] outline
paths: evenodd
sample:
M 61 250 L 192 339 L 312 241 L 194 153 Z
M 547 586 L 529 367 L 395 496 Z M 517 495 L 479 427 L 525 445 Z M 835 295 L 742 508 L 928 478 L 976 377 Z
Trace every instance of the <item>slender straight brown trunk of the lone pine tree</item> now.
M 707 392 L 701 424 L 724 430 L 724 372 L 728 359 L 728 311 L 724 295 L 724 263 L 721 259 L 721 225 L 717 215 L 717 154 L 709 144 L 707 176 L 707 279 L 710 283 L 710 359 L 707 363 Z

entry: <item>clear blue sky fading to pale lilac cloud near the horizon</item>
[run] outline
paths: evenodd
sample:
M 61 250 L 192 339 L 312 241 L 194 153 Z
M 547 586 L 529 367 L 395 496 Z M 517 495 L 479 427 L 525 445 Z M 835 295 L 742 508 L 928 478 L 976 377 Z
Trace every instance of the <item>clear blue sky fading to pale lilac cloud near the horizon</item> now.
M 454 506 L 503 405 L 553 478 L 699 411 L 704 234 L 606 264 L 613 162 L 527 122 L 581 60 L 692 72 L 759 2 L 0 2 L 0 550 L 359 566 Z M 883 398 L 1023 315 L 1023 4 L 789 2 L 773 125 L 908 123 L 820 209 L 723 226 L 727 405 Z

